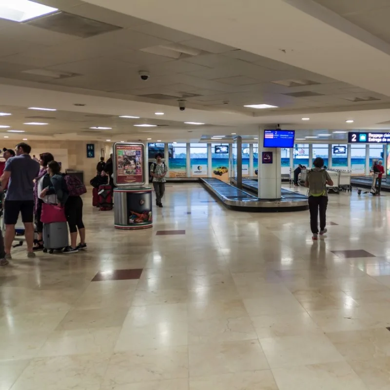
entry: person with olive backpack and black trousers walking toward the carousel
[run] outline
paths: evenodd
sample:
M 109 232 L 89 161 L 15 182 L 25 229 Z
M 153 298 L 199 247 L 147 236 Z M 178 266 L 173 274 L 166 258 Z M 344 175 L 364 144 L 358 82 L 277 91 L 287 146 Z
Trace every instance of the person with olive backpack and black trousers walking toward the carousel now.
M 310 227 L 312 229 L 312 239 L 318 239 L 318 211 L 320 215 L 320 231 L 323 235 L 326 229 L 326 209 L 328 206 L 328 191 L 326 185 L 333 185 L 331 176 L 323 168 L 324 160 L 317 157 L 313 162 L 314 168 L 306 176 L 305 187 L 309 188 L 309 210 L 310 210 Z

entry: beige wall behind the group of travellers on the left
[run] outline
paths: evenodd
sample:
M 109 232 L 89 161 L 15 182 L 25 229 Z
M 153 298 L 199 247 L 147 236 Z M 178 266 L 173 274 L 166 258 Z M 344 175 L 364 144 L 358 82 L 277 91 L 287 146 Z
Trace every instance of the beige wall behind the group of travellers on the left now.
M 14 149 L 16 143 L 8 141 L 2 147 Z M 112 153 L 112 144 L 107 142 L 87 142 L 87 141 L 27 141 L 31 146 L 31 156 L 39 153 L 50 152 L 53 153 L 54 158 L 61 161 L 63 172 L 65 169 L 77 169 L 84 172 L 84 181 L 89 183 L 89 180 L 96 176 L 96 164 L 99 161 L 101 149 L 105 151 L 105 158 L 107 159 Z M 87 143 L 95 144 L 95 158 L 87 158 Z M 56 152 L 57 155 L 56 156 Z M 67 161 L 65 161 L 67 156 Z

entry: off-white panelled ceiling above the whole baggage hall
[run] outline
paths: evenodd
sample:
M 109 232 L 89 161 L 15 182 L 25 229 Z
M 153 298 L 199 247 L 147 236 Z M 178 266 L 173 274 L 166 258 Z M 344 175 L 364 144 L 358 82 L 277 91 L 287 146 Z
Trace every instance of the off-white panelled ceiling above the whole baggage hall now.
M 174 0 L 39 0 L 120 27 L 90 38 L 0 20 L 0 111 L 10 106 L 14 115 L 8 120 L 20 127 L 30 115 L 26 107 L 54 105 L 56 119 L 29 132 L 31 137 L 61 139 L 150 136 L 186 141 L 232 132 L 255 135 L 257 125 L 276 123 L 304 135 L 314 134 L 312 129 L 390 129 L 382 123 L 390 121 L 390 86 L 383 82 L 390 46 L 378 34 L 374 37 L 343 19 L 351 15 L 353 4 L 360 15 L 386 8 L 381 0 L 370 2 L 370 9 L 365 0 L 247 0 L 244 6 L 224 2 L 223 7 L 218 0 L 204 1 L 182 0 L 177 9 Z M 180 11 L 180 18 L 173 9 Z M 199 55 L 173 59 L 150 53 L 156 46 L 177 44 Z M 74 75 L 26 73 L 37 70 Z M 139 70 L 148 70 L 150 78 L 142 81 Z M 275 83 L 286 80 L 309 80 L 311 85 Z M 314 96 L 287 95 L 296 93 Z M 178 98 L 187 100 L 184 112 L 177 108 Z M 366 98 L 376 100 L 351 101 Z M 254 103 L 279 108 L 243 107 Z M 157 111 L 165 112 L 164 119 L 156 118 Z M 108 117 L 99 117 L 99 123 L 85 117 L 96 114 Z M 118 120 L 119 115 L 167 126 L 135 128 L 132 120 Z M 311 120 L 302 122 L 302 117 Z M 345 123 L 350 118 L 352 125 Z M 184 121 L 206 125 L 189 129 Z M 109 124 L 113 130 L 107 134 L 85 132 L 89 125 Z

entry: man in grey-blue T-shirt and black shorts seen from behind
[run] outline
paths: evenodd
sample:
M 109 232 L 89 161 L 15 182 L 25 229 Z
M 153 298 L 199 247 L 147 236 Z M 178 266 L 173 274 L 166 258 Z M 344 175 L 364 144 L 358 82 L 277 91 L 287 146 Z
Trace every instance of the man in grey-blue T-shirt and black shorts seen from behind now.
M 0 177 L 1 189 L 8 183 L 4 202 L 5 258 L 11 259 L 11 247 L 15 238 L 15 225 L 21 214 L 24 236 L 27 244 L 27 257 L 35 257 L 34 243 L 34 178 L 39 173 L 39 163 L 31 156 L 31 146 L 22 142 L 16 145 L 16 157 L 5 163 Z

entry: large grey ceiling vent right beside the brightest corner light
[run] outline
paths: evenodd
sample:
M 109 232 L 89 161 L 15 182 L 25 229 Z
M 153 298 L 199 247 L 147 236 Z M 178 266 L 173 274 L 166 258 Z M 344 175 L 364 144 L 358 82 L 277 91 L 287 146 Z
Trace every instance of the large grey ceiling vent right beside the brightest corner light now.
M 80 38 L 94 37 L 122 28 L 63 11 L 28 20 L 24 24 Z

